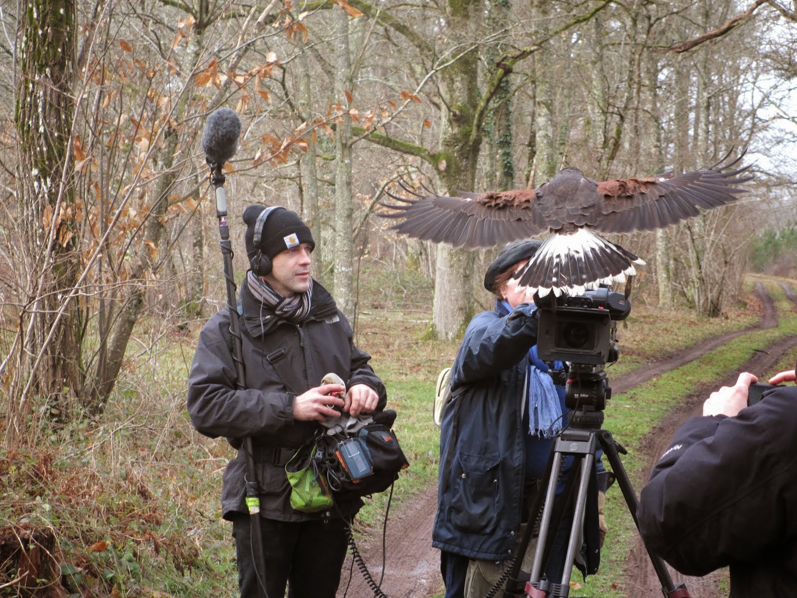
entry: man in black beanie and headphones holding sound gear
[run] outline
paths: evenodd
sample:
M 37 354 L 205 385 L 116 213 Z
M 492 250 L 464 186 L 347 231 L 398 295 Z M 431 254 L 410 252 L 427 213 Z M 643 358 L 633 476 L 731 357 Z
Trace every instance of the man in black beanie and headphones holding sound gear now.
M 188 381 L 191 423 L 204 435 L 241 447 L 252 438 L 261 504 L 265 587 L 269 598 L 334 598 L 346 556 L 346 525 L 363 503 L 306 513 L 290 504 L 285 464 L 327 418 L 381 410 L 387 393 L 352 342 L 332 295 L 310 275 L 316 243 L 301 218 L 283 207 L 246 208 L 249 271 L 238 311 L 245 381 L 238 388 L 230 316 L 222 309 L 200 333 Z M 328 373 L 344 380 L 321 384 Z M 242 598 L 260 598 L 245 506 L 245 455 L 226 467 L 222 516 L 233 522 Z

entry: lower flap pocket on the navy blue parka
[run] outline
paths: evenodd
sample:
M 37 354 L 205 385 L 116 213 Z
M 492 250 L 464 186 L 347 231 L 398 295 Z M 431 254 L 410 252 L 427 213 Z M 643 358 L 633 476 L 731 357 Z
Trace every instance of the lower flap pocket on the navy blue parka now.
M 498 521 L 497 454 L 460 453 L 453 463 L 451 522 L 469 533 L 493 533 Z

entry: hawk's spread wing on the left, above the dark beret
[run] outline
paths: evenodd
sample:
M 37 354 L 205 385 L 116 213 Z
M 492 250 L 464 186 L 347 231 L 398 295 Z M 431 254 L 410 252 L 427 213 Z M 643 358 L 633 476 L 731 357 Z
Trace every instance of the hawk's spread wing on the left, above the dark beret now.
M 536 209 L 532 190 L 491 193 L 457 191 L 460 197 L 419 195 L 402 185 L 412 198 L 388 193 L 398 203 L 380 202 L 394 210 L 379 212 L 383 218 L 401 218 L 391 226 L 422 241 L 450 243 L 454 247 L 494 247 L 529 238 L 548 226 Z

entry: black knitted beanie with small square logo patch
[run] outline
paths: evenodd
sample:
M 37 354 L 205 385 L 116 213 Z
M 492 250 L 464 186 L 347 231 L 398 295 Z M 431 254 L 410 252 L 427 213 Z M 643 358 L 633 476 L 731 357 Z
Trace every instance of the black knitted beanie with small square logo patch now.
M 316 249 L 316 242 L 312 240 L 310 229 L 296 212 L 292 212 L 284 207 L 277 207 L 265 217 L 263 230 L 260 235 L 259 248 L 254 245 L 254 227 L 257 217 L 265 210 L 265 206 L 256 204 L 244 210 L 244 223 L 246 224 L 246 234 L 244 242 L 246 244 L 246 256 L 249 261 L 257 255 L 257 250 L 269 258 L 282 251 L 296 247 L 300 243 L 309 243 L 310 249 Z

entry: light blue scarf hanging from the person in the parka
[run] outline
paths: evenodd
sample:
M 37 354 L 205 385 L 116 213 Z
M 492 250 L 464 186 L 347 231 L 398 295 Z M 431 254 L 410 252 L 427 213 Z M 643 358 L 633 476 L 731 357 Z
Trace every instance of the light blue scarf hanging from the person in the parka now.
M 512 308 L 506 301 L 501 301 L 511 313 Z M 551 438 L 562 429 L 562 403 L 556 384 L 548 374 L 551 368 L 537 357 L 537 345 L 528 350 L 528 433 L 540 438 Z M 554 362 L 554 368 L 562 368 L 560 361 Z

